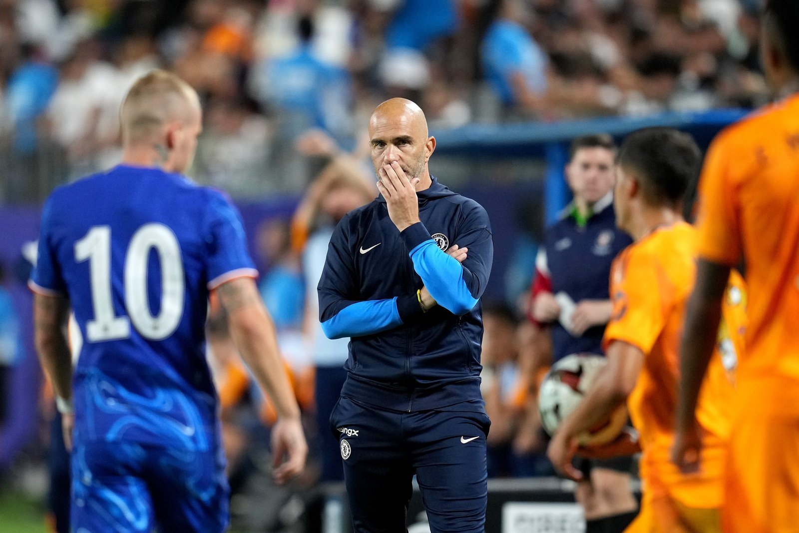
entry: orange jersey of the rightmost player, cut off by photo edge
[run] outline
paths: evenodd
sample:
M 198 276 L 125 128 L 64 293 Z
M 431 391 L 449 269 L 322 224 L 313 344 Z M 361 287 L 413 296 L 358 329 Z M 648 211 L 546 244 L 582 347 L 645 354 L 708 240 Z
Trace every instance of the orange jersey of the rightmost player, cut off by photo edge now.
M 799 96 L 716 137 L 699 202 L 699 257 L 745 264 L 749 325 L 741 380 L 799 380 Z

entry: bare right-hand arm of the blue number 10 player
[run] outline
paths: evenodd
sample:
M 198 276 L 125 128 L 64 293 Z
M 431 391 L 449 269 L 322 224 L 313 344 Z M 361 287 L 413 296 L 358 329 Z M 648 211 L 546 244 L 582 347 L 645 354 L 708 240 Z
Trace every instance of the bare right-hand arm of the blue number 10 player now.
M 228 315 L 230 336 L 241 359 L 255 376 L 277 411 L 272 428 L 273 475 L 284 483 L 302 471 L 308 444 L 300 421 L 300 407 L 288 382 L 275 326 L 251 277 L 237 277 L 214 288 Z

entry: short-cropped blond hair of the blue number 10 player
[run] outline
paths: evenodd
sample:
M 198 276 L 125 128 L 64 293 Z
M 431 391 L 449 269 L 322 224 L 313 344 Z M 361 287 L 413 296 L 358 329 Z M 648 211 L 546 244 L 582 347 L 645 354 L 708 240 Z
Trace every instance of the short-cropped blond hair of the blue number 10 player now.
M 166 70 L 150 71 L 133 83 L 122 101 L 122 141 L 146 141 L 171 121 L 188 121 L 193 105 L 199 108 L 200 102 L 188 83 Z

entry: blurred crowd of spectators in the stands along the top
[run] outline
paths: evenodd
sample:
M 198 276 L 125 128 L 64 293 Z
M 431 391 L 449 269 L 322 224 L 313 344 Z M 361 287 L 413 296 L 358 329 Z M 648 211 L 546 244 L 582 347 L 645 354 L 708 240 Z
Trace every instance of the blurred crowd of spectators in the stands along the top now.
M 0 197 L 41 199 L 118 156 L 156 66 L 201 94 L 193 177 L 298 193 L 389 96 L 431 128 L 764 101 L 756 0 L 2 0 Z M 298 142 L 299 141 L 299 142 Z

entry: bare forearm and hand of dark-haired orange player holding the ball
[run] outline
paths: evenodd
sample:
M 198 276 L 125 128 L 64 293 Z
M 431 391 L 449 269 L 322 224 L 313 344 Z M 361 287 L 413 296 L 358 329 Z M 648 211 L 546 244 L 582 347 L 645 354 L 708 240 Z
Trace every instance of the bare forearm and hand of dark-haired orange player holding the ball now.
M 641 348 L 614 340 L 606 351 L 607 364 L 577 408 L 563 420 L 547 448 L 553 466 L 574 480 L 582 473 L 571 465 L 578 451 L 578 436 L 605 422 L 614 410 L 626 402 L 635 388 L 644 364 Z

